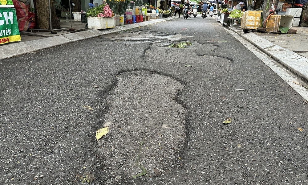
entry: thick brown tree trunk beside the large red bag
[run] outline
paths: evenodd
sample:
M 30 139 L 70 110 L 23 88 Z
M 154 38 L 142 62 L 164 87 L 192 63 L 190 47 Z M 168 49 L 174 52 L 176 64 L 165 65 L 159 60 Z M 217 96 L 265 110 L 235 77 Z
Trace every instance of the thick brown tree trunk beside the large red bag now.
M 34 0 L 34 9 L 36 14 L 36 25 L 39 29 L 50 29 L 50 19 L 49 19 L 49 0 Z M 59 29 L 61 28 L 58 21 L 53 4 L 53 0 L 50 0 L 51 3 L 51 28 Z

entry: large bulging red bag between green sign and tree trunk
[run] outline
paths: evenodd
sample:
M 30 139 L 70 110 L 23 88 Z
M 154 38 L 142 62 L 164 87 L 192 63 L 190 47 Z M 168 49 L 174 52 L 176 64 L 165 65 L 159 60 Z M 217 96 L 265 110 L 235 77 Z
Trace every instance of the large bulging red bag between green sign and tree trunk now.
M 16 16 L 19 31 L 27 31 L 28 29 L 35 28 L 35 14 L 28 11 L 26 5 L 20 1 L 13 0 L 16 9 Z

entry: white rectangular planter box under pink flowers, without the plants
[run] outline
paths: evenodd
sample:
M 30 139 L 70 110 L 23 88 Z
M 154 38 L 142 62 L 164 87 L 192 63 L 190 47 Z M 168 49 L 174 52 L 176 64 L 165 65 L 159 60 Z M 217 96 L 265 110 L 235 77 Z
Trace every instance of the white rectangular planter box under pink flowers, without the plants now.
M 115 27 L 114 17 L 88 17 L 88 28 L 103 30 Z

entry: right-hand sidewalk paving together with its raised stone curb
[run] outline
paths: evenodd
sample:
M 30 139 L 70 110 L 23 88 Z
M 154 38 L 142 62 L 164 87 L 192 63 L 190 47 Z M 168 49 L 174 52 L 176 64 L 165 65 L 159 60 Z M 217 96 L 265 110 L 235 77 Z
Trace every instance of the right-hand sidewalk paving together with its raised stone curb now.
M 308 27 L 292 29 L 297 30 L 297 33 L 244 33 L 240 26 L 231 30 L 308 81 Z

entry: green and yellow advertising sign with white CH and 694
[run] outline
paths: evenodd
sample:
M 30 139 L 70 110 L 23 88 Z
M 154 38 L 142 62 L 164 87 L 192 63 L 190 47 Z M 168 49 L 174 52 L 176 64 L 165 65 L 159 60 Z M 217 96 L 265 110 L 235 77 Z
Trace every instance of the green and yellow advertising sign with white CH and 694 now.
M 0 8 L 0 44 L 21 41 L 15 8 Z

